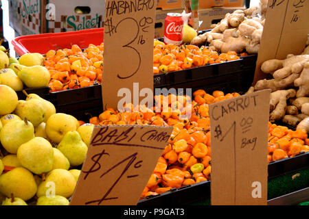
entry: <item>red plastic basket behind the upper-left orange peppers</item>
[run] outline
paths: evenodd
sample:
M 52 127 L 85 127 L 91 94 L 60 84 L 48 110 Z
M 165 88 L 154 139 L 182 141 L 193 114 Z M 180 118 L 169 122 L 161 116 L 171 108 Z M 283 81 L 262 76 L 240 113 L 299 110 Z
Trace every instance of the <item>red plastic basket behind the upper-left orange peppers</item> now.
M 70 49 L 72 44 L 87 48 L 89 44 L 99 45 L 103 42 L 104 28 L 83 29 L 57 34 L 36 34 L 19 36 L 12 40 L 14 51 L 18 55 L 25 53 L 45 54 L 51 49 Z

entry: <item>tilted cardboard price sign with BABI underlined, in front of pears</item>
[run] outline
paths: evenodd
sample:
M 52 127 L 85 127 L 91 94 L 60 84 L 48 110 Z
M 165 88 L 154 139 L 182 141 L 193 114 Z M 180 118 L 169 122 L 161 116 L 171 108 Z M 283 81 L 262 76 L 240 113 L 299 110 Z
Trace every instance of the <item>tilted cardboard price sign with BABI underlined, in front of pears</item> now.
M 95 126 L 70 205 L 136 205 L 172 127 Z

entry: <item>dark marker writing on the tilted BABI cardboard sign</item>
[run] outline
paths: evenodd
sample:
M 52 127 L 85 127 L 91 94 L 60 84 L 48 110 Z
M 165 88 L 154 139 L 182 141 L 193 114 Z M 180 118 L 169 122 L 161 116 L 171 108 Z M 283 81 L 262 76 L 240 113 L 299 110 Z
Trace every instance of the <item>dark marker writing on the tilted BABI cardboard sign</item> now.
M 144 131 L 145 130 L 145 131 Z M 112 199 L 117 199 L 119 197 L 117 196 L 109 196 L 117 183 L 119 183 L 120 179 L 123 177 L 126 177 L 127 179 L 133 179 L 135 177 L 139 177 L 139 172 L 134 172 L 134 170 L 137 170 L 142 167 L 143 160 L 138 159 L 139 153 L 134 151 L 134 148 L 137 147 L 144 147 L 146 149 L 159 149 L 163 150 L 163 148 L 159 146 L 151 146 L 153 145 L 153 141 L 155 142 L 167 142 L 170 138 L 170 135 L 166 131 L 158 131 L 157 129 L 144 129 L 144 127 L 128 127 L 127 129 L 122 129 L 122 131 L 119 131 L 119 129 L 115 129 L 115 127 L 100 127 L 100 130 L 98 133 L 95 133 L 93 136 L 93 139 L 91 141 L 91 147 L 92 146 L 131 146 L 133 147 L 133 151 L 129 153 L 129 155 L 125 155 L 125 158 L 121 158 L 120 161 L 116 160 L 116 157 L 114 157 L 110 152 L 109 148 L 106 149 L 104 147 L 101 151 L 96 153 L 95 155 L 92 155 L 91 157 L 91 165 L 87 170 L 82 169 L 82 172 L 85 174 L 83 179 L 87 180 L 87 177 L 89 175 L 94 174 L 95 172 L 98 172 L 100 170 L 104 171 L 100 176 L 98 176 L 100 179 L 104 180 L 104 177 L 110 173 L 109 176 L 115 175 L 115 172 L 117 170 L 119 172 L 119 176 L 117 179 L 111 181 L 111 183 L 108 183 L 111 185 L 108 190 L 104 190 L 104 194 L 102 194 L 102 198 L 95 199 L 91 201 L 85 201 L 84 205 L 90 205 L 93 203 L 98 203 L 100 205 L 103 201 L 108 201 Z M 135 144 L 133 142 L 142 142 L 142 144 Z M 132 143 L 130 143 L 132 142 Z M 147 143 L 149 145 L 147 145 Z M 106 166 L 106 164 L 111 163 L 110 166 Z M 124 168 L 121 166 L 124 165 Z M 116 169 L 117 168 L 117 169 Z M 131 174 L 126 175 L 126 172 L 130 170 Z M 133 171 L 133 172 L 132 172 Z M 114 172 L 114 173 L 113 173 Z M 96 176 L 96 175 L 95 175 Z

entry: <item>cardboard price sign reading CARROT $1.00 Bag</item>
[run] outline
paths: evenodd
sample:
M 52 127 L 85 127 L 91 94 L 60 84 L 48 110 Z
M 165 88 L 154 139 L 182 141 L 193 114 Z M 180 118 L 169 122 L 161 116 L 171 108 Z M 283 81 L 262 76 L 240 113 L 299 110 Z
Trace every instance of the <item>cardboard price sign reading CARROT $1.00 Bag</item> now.
M 209 105 L 211 205 L 266 205 L 270 94 L 261 90 Z

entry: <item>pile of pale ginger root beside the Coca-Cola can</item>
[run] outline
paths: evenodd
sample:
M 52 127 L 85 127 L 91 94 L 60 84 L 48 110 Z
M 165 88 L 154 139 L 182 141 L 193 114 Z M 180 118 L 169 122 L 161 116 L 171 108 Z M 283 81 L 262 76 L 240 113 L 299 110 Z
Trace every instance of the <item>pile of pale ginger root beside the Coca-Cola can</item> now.
M 211 31 L 196 36 L 190 44 L 201 46 L 208 42 L 212 50 L 221 53 L 228 51 L 258 53 L 267 3 L 268 0 L 260 0 L 259 5 L 227 13 Z

